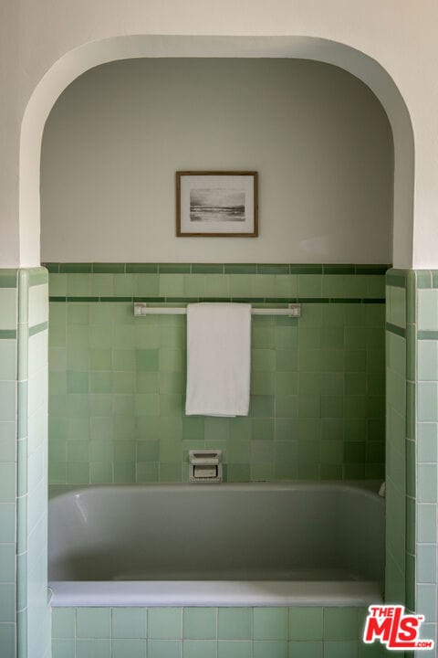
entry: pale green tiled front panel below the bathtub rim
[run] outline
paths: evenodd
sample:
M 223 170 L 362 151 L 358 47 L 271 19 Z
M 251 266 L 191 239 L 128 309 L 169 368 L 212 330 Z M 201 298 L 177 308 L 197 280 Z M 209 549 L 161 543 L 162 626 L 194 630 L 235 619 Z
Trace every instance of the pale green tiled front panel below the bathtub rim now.
M 361 608 L 54 608 L 52 658 L 381 658 Z M 76 653 L 75 653 L 76 652 Z

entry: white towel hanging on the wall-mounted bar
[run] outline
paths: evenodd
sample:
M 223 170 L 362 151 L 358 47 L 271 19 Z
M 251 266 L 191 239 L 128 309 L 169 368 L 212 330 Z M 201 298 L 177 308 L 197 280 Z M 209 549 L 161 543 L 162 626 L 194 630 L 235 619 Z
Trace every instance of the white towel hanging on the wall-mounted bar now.
M 250 354 L 251 304 L 188 304 L 185 413 L 247 416 Z

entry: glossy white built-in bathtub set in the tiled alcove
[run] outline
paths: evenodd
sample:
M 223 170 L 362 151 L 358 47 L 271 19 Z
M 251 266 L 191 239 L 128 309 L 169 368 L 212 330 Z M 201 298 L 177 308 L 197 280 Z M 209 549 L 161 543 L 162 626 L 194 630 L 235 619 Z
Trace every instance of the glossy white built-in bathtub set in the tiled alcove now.
M 54 606 L 381 601 L 384 501 L 345 483 L 89 486 L 49 502 Z

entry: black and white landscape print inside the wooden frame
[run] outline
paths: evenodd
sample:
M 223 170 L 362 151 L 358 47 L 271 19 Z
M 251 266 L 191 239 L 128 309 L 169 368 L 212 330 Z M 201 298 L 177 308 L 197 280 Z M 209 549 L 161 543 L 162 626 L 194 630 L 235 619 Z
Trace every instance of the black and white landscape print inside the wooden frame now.
M 245 190 L 204 187 L 190 190 L 191 222 L 245 222 Z

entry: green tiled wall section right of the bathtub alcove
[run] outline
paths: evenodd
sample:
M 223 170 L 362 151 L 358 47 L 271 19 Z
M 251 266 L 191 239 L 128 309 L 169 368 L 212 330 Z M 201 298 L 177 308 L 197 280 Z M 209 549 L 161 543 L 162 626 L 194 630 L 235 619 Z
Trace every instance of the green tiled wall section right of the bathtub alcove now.
M 423 614 L 436 643 L 438 272 L 390 270 L 387 283 L 386 599 Z

